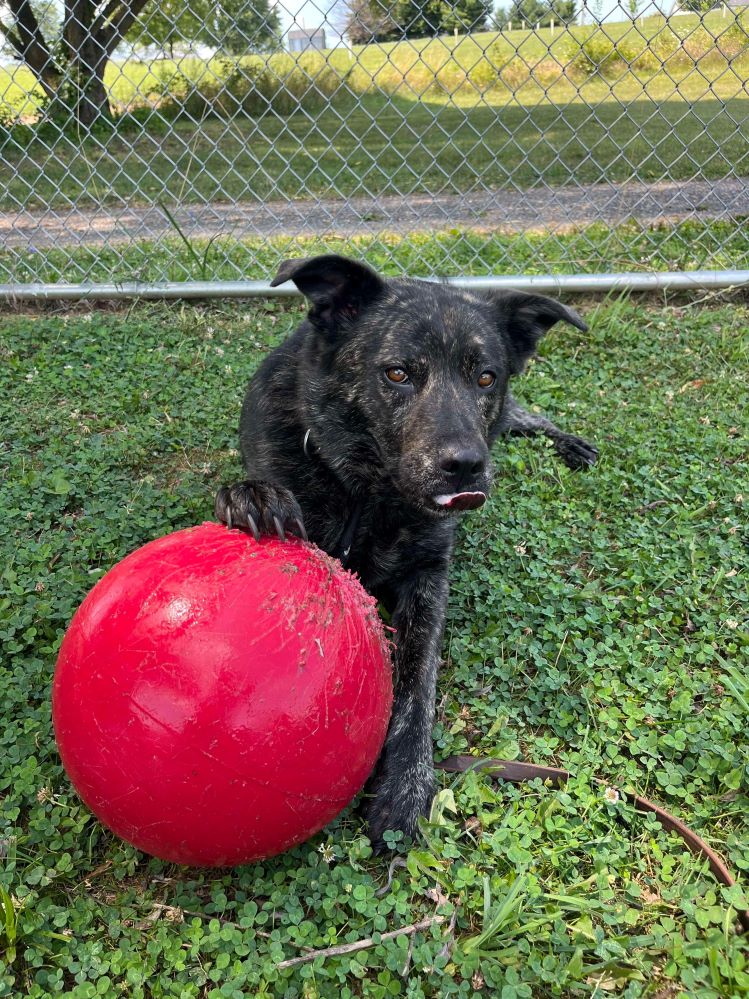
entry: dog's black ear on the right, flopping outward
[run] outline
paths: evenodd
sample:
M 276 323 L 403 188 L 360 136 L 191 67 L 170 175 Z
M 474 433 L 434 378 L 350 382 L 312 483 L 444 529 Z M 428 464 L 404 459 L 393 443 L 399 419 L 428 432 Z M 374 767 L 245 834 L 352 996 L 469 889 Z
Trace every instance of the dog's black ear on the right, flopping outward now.
M 583 333 L 588 329 L 574 309 L 545 295 L 525 291 L 499 291 L 493 292 L 490 299 L 507 339 L 510 368 L 515 375 L 520 374 L 538 341 L 554 323 L 563 319 Z

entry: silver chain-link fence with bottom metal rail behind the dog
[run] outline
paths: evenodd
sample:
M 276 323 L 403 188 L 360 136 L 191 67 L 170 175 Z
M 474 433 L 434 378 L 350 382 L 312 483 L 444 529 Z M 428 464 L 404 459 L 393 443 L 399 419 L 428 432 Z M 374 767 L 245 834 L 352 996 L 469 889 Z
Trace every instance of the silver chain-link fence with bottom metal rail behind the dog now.
M 746 282 L 749 5 L 690 3 L 4 0 L 3 292 L 267 290 L 321 249 Z

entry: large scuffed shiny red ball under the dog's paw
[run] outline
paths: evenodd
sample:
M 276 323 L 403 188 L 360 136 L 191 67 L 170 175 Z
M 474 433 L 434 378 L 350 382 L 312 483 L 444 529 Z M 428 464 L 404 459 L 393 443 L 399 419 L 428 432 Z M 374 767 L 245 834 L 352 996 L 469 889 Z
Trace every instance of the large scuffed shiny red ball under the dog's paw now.
M 65 769 L 113 832 L 219 867 L 281 853 L 362 788 L 392 705 L 374 600 L 311 545 L 203 524 L 101 579 L 63 639 Z

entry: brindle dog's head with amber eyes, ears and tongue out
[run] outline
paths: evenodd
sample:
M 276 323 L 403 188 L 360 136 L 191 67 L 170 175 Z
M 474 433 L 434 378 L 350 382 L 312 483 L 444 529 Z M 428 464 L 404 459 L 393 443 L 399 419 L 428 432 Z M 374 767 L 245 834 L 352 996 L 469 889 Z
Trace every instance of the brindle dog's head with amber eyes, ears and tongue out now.
M 435 516 L 486 499 L 508 381 L 544 333 L 587 329 L 543 295 L 384 279 L 332 254 L 286 261 L 285 281 L 310 302 L 302 393 L 321 456 Z

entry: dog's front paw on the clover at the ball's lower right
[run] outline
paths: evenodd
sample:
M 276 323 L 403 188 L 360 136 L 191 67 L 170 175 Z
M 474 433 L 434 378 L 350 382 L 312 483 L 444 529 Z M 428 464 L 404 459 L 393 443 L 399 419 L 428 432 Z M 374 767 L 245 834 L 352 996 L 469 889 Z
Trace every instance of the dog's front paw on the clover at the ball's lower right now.
M 429 814 L 434 790 L 434 770 L 428 764 L 416 764 L 398 775 L 375 774 L 370 779 L 360 811 L 375 853 L 387 849 L 388 829 L 400 830 L 406 836 L 416 833 L 419 816 Z

